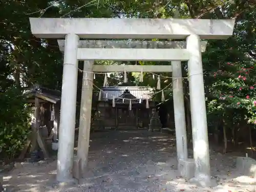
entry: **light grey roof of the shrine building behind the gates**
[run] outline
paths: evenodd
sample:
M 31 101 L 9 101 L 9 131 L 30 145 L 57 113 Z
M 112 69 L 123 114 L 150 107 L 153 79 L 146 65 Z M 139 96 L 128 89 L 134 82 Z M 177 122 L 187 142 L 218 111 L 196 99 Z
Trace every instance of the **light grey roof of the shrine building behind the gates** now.
M 151 87 L 103 87 L 102 100 L 113 99 L 117 97 L 126 99 L 151 99 L 153 89 Z M 129 93 L 124 93 L 128 90 Z

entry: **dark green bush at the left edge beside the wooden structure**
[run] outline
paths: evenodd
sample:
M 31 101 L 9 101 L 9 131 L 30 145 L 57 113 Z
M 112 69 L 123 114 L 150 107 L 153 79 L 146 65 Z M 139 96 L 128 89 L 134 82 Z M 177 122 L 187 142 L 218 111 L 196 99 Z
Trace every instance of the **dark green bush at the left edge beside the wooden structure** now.
M 21 94 L 16 88 L 0 93 L 0 148 L 6 159 L 17 155 L 29 134 L 30 106 Z

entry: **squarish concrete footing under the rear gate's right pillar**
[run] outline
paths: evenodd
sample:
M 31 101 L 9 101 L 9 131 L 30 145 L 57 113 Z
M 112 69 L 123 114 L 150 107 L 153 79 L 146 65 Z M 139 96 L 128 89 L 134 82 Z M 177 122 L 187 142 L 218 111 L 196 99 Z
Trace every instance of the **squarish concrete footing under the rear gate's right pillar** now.
M 195 176 L 195 161 L 194 159 L 179 159 L 179 173 L 185 179 L 190 179 Z

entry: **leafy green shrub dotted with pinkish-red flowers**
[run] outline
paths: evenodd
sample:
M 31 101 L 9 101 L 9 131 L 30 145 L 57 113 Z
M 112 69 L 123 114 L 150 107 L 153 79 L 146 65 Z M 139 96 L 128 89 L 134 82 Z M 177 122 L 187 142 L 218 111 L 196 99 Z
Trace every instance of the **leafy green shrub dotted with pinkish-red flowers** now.
M 232 71 L 234 71 L 232 73 Z M 227 110 L 238 113 L 248 123 L 256 124 L 256 71 L 252 63 L 226 63 L 221 70 L 213 73 L 216 79 L 209 92 L 209 113 L 219 115 Z

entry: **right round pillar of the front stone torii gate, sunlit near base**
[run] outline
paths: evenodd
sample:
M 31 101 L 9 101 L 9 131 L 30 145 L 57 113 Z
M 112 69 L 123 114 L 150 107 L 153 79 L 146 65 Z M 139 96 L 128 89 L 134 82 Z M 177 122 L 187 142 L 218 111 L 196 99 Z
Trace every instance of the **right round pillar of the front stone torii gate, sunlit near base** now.
M 206 119 L 202 55 L 199 35 L 187 37 L 188 80 L 190 94 L 195 181 L 202 186 L 212 185 L 210 176 L 209 143 Z

